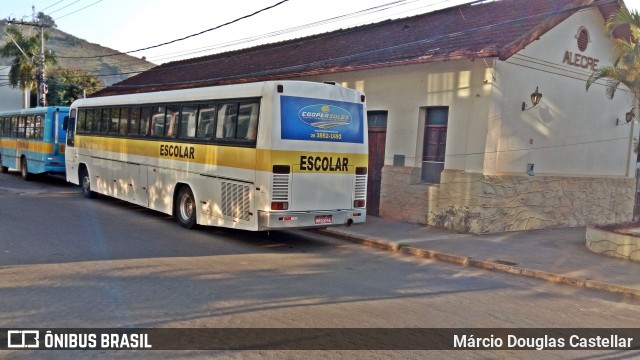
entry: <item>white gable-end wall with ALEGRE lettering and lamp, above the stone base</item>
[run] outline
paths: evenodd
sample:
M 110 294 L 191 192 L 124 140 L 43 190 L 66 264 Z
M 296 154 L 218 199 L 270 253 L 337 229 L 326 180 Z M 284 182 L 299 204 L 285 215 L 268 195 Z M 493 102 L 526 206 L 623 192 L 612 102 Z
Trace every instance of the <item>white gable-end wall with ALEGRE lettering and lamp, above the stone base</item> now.
M 591 38 L 584 52 L 576 41 L 581 26 Z M 620 89 L 609 100 L 600 84 L 587 92 L 586 79 L 592 70 L 563 63 L 569 51 L 599 59 L 598 66 L 609 65 L 613 42 L 603 28 L 598 10 L 582 11 L 506 62 L 497 62 L 489 116 L 490 137 L 498 142 L 488 148 L 497 153 L 495 161 L 487 162 L 491 165 L 485 173 L 523 174 L 527 163 L 533 163 L 539 175 L 635 176 L 636 154 L 630 145 L 638 126 L 616 126 L 616 119 L 624 121 L 631 109 L 632 96 Z M 542 102 L 523 112 L 521 104 L 531 105 L 530 94 L 536 86 Z

